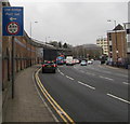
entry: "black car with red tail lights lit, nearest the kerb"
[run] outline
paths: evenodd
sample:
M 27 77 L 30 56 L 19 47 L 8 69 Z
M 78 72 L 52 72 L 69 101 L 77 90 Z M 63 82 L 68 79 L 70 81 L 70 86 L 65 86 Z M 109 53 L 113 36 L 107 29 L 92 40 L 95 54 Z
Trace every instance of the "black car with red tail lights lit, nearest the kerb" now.
M 44 72 L 56 72 L 57 65 L 54 61 L 46 61 L 42 64 L 42 73 Z

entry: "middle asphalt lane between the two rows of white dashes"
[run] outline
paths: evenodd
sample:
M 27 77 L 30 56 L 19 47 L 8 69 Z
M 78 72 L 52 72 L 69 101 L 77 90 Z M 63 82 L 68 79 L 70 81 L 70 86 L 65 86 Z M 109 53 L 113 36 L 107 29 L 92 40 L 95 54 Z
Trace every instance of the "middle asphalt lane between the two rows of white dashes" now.
M 79 71 L 79 68 L 83 71 Z M 103 77 L 101 73 L 99 73 L 100 75 L 88 74 L 88 72 L 90 72 L 89 70 L 84 70 L 84 67 L 79 68 L 77 70 L 74 67 L 60 67 L 60 70 L 64 74 L 67 74 L 77 81 L 80 80 L 81 82 L 92 85 L 99 92 L 103 92 L 104 94 L 112 93 L 123 99 L 128 99 L 128 85 L 120 82 L 120 79 L 115 80 L 115 77 L 113 77 L 112 80 L 112 78 L 108 79 L 107 75 Z

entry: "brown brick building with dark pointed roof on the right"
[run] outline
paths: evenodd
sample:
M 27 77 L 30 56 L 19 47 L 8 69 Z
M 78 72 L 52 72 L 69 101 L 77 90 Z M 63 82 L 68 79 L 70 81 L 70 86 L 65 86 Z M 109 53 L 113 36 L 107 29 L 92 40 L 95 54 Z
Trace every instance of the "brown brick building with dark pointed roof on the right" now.
M 108 60 L 113 64 L 125 64 L 127 58 L 126 35 L 126 30 L 120 24 L 107 32 Z

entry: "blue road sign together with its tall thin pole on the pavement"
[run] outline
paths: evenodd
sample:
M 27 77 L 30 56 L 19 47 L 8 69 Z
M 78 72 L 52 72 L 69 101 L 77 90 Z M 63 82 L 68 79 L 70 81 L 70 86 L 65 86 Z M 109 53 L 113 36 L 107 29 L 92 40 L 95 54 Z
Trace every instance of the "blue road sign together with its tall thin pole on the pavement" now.
M 23 8 L 2 8 L 2 35 L 12 36 L 12 98 L 14 98 L 14 77 L 15 77 L 15 41 L 14 36 L 24 35 Z

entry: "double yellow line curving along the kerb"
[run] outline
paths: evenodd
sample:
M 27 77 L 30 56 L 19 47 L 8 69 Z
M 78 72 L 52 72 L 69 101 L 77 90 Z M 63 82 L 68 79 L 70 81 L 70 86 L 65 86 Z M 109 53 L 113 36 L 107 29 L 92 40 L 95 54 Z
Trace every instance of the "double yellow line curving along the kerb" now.
M 53 109 L 57 112 L 57 114 L 62 118 L 62 120 L 65 123 L 75 124 L 75 122 L 70 119 L 70 116 L 57 105 L 57 102 L 51 97 L 51 95 L 44 88 L 43 84 L 41 83 L 41 81 L 38 77 L 38 73 L 39 73 L 40 70 L 41 70 L 41 68 L 35 73 L 35 78 L 36 78 L 36 82 L 37 82 L 39 88 L 41 89 L 42 94 L 44 95 L 44 97 L 51 104 Z

